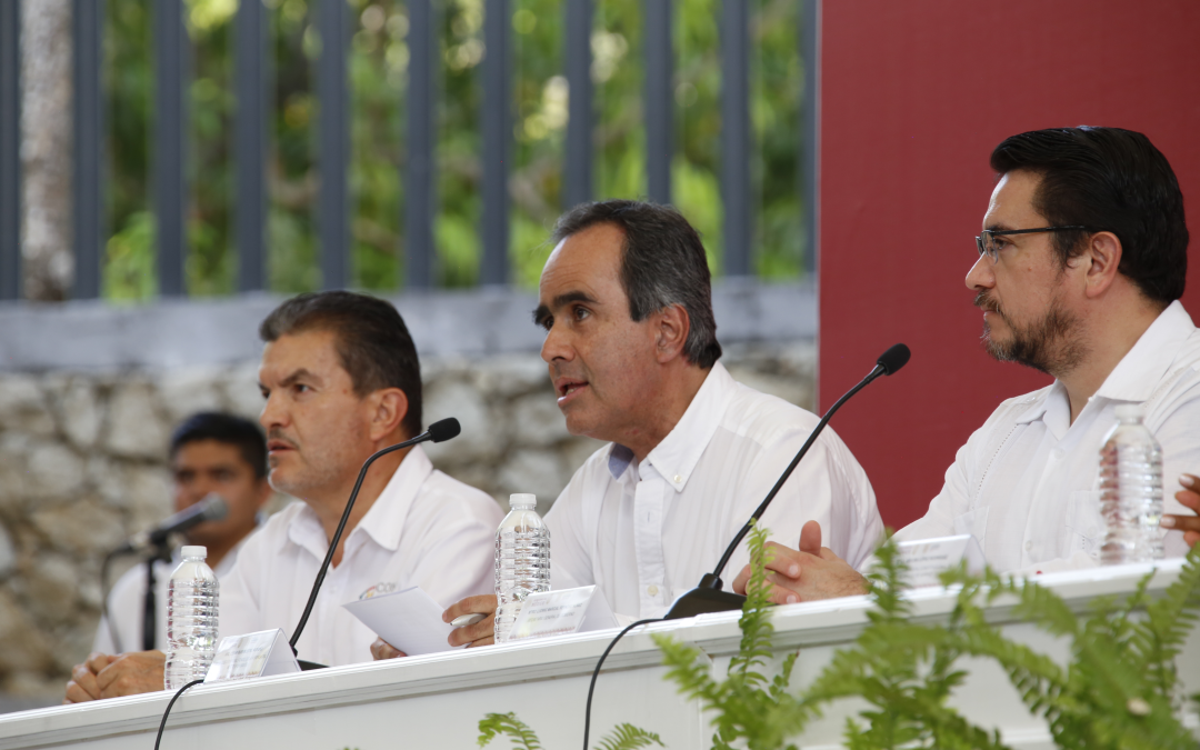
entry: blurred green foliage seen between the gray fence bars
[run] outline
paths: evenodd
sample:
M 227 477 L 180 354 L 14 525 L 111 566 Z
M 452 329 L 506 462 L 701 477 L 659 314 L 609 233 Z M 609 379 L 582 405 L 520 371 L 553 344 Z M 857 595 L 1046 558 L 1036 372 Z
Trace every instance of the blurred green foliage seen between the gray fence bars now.
M 269 288 L 295 293 L 320 286 L 313 212 L 316 120 L 313 62 L 320 40 L 314 0 L 263 0 L 271 25 L 275 72 L 266 172 Z M 803 274 L 804 211 L 798 160 L 804 71 L 799 2 L 751 5 L 751 122 L 754 132 L 751 254 L 761 276 Z M 595 0 L 595 196 L 646 192 L 642 0 Z M 353 277 L 368 290 L 403 284 L 403 170 L 408 20 L 400 0 L 347 0 L 353 14 L 352 86 Z M 562 0 L 510 0 L 514 151 L 510 178 L 510 257 L 514 283 L 532 288 L 550 252 L 545 240 L 562 205 L 566 84 Z M 235 288 L 232 170 L 233 17 L 238 0 L 187 0 L 193 43 L 190 84 L 190 253 L 187 290 Z M 484 0 L 434 0 L 442 65 L 436 113 L 438 210 L 437 282 L 473 286 L 480 242 L 479 66 L 484 61 Z M 108 0 L 104 30 L 108 122 L 108 227 L 103 294 L 145 300 L 156 294 L 150 152 L 154 96 L 151 1 Z M 674 203 L 701 230 L 714 272 L 722 253 L 720 158 L 720 0 L 676 0 Z

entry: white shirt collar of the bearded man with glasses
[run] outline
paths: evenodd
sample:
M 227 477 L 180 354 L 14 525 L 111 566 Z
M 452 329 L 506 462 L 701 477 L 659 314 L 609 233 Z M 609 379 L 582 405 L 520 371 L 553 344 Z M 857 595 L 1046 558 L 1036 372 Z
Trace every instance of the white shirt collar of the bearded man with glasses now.
M 1138 343 L 1121 358 L 1096 395 L 1114 401 L 1146 401 L 1183 350 L 1183 341 L 1193 331 L 1195 325 L 1192 324 L 1192 316 L 1178 300 L 1171 302 L 1150 324 Z M 1067 401 L 1067 388 L 1058 380 L 1030 398 L 1030 408 L 1016 421 L 1028 424 L 1042 419 L 1048 404 L 1055 400 Z

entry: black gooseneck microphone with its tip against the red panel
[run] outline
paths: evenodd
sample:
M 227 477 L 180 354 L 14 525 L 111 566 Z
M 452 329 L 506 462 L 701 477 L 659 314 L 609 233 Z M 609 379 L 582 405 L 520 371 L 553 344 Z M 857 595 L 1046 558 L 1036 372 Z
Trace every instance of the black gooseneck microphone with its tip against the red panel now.
M 737 536 L 733 538 L 730 546 L 725 548 L 725 554 L 721 556 L 721 560 L 716 564 L 713 572 L 704 574 L 704 577 L 700 580 L 700 586 L 677 599 L 674 605 L 671 606 L 671 611 L 667 612 L 666 617 L 662 619 L 682 619 L 684 617 L 703 614 L 706 612 L 726 612 L 728 610 L 742 608 L 742 602 L 745 601 L 745 596 L 734 594 L 733 592 L 721 590 L 721 587 L 724 586 L 724 583 L 721 583 L 721 572 L 725 570 L 725 565 L 728 564 L 730 558 L 733 557 L 733 551 L 739 544 L 742 544 L 745 535 L 750 533 L 750 527 L 754 522 L 767 512 L 767 506 L 770 505 L 770 502 L 775 499 L 776 494 L 779 494 L 779 491 L 784 487 L 784 482 L 786 482 L 787 478 L 792 475 L 792 472 L 796 469 L 797 464 L 799 464 L 800 458 L 804 457 L 804 454 L 809 452 L 809 449 L 812 446 L 812 443 L 816 442 L 817 436 L 821 434 L 824 426 L 829 424 L 829 419 L 838 409 L 841 408 L 841 404 L 850 401 L 851 396 L 866 388 L 866 385 L 875 378 L 881 374 L 893 374 L 907 365 L 910 356 L 912 356 L 912 353 L 905 344 L 898 343 L 893 346 L 887 352 L 881 354 L 880 359 L 875 360 L 875 367 L 858 383 L 858 385 L 846 391 L 841 398 L 829 407 L 829 410 L 826 412 L 826 415 L 821 418 L 821 421 L 817 422 L 817 426 L 809 434 L 809 439 L 800 446 L 799 452 L 796 454 L 792 462 L 787 464 L 786 469 L 784 469 L 782 476 L 779 478 L 775 486 L 767 493 L 766 499 L 763 499 L 762 504 L 755 509 L 754 514 L 750 515 L 750 520 L 746 521 L 745 526 L 742 527 L 742 530 L 737 533 Z

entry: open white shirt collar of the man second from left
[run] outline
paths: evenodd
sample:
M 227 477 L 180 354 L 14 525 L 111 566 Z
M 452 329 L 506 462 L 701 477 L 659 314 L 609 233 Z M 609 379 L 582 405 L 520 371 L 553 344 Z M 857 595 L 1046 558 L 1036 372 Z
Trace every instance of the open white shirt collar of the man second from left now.
M 371 536 L 377 545 L 395 552 L 400 547 L 400 534 L 403 532 L 408 509 L 416 499 L 421 485 L 432 473 L 433 463 L 430 462 L 430 457 L 421 450 L 420 445 L 413 446 L 391 479 L 388 480 L 388 485 L 376 498 L 371 509 L 362 516 L 359 524 L 347 534 L 347 539 L 362 529 L 362 533 Z M 325 529 L 320 526 L 317 514 L 307 504 L 288 526 L 288 539 L 310 550 L 318 558 L 324 557 L 329 551 Z

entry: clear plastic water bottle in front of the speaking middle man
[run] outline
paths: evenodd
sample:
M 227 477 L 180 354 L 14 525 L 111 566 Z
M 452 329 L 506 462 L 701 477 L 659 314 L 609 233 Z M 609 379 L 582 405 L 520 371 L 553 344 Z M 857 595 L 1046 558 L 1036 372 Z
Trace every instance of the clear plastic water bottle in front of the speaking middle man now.
M 510 494 L 509 515 L 496 530 L 496 642 L 509 640 L 521 604 L 550 590 L 550 529 L 533 494 Z

